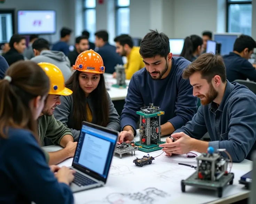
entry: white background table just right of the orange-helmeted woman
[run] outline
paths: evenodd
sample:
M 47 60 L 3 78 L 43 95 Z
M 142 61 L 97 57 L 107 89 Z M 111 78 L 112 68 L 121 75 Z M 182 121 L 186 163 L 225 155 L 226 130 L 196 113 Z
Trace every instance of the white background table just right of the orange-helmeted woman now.
M 117 82 L 116 79 L 112 77 L 112 74 L 104 73 L 105 81 L 106 81 L 106 88 L 109 88 L 107 92 L 109 92 L 110 98 L 113 100 L 124 100 L 127 96 L 127 89 L 130 80 L 125 80 L 127 84 L 127 88 L 115 88 L 112 87 L 113 84 Z

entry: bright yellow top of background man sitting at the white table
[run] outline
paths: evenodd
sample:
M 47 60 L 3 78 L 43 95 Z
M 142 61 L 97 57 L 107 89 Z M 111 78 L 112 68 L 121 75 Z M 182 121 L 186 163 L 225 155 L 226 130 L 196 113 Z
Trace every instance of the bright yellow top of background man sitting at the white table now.
M 127 56 L 127 63 L 125 65 L 126 70 L 126 79 L 131 79 L 133 74 L 136 71 L 139 71 L 140 69 L 144 68 L 145 64 L 143 62 L 143 59 L 141 58 L 141 55 L 139 54 L 139 47 L 133 47 L 131 49 L 131 52 L 129 56 Z

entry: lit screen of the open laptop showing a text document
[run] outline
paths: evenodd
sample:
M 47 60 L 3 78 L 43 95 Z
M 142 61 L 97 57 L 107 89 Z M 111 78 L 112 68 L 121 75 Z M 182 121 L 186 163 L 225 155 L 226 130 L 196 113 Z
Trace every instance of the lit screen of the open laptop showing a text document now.
M 106 178 L 117 135 L 82 125 L 74 163 Z

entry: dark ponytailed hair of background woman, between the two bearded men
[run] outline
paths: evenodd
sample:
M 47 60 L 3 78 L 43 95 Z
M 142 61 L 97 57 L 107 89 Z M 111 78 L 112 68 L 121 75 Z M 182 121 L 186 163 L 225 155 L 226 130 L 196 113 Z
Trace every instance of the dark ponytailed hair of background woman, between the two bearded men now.
M 198 35 L 186 37 L 180 56 L 190 61 L 193 57 L 193 53 L 197 50 L 198 46 L 202 46 L 202 44 L 203 39 Z

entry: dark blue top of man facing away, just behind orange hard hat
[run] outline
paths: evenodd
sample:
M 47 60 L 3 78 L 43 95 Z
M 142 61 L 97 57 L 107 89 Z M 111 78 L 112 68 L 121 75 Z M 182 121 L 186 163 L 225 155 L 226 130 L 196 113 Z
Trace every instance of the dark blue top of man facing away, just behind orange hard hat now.
M 101 55 L 105 72 L 112 74 L 115 72 L 115 66 L 117 64 L 123 64 L 122 57 L 115 52 L 115 46 L 106 43 L 103 47 L 99 47 L 97 53 Z

